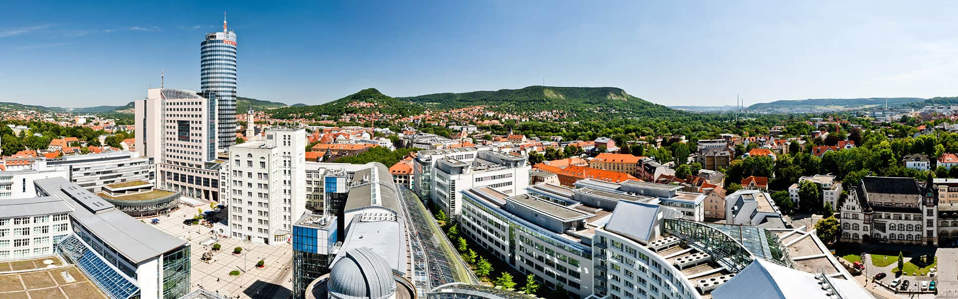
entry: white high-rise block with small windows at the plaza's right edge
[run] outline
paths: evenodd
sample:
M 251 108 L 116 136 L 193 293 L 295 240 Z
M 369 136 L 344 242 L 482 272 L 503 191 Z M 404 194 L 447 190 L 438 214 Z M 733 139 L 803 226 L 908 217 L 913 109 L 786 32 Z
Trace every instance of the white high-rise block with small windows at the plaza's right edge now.
M 273 245 L 306 212 L 306 130 L 270 129 L 265 140 L 230 146 L 230 235 Z

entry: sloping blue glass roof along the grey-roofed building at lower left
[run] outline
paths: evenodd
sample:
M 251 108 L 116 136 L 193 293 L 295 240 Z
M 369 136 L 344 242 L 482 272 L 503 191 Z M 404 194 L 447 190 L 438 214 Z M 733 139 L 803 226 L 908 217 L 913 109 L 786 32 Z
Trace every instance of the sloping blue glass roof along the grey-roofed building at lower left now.
M 77 236 L 63 239 L 58 245 L 67 260 L 80 267 L 83 274 L 90 277 L 93 284 L 103 290 L 112 299 L 126 299 L 140 294 L 140 288 L 133 279 L 127 277 L 116 267 L 110 266 L 103 257 L 92 250 Z

